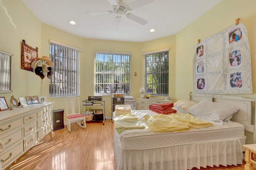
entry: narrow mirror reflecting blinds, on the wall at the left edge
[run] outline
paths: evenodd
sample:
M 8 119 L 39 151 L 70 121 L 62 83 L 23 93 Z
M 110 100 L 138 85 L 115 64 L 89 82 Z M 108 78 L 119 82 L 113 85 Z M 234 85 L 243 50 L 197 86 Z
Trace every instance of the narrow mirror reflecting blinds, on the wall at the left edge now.
M 0 51 L 0 93 L 12 92 L 12 54 Z

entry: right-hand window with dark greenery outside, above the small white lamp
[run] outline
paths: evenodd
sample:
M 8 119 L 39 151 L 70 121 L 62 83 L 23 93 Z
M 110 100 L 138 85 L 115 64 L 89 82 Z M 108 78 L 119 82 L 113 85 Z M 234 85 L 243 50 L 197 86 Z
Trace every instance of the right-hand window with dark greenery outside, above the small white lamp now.
M 146 94 L 168 96 L 169 50 L 144 53 Z

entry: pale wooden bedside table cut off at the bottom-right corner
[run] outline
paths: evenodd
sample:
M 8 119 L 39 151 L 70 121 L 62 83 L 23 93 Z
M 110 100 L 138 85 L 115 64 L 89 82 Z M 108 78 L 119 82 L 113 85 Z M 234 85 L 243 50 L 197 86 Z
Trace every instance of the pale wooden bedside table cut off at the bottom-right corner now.
M 252 170 L 256 168 L 256 144 L 244 144 L 245 148 L 245 161 L 244 165 L 245 170 Z

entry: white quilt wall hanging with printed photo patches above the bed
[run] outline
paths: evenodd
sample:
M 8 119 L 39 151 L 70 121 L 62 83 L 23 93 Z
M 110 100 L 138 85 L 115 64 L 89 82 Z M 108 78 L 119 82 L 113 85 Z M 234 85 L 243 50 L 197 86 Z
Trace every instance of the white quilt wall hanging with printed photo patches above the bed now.
M 194 93 L 252 93 L 247 29 L 237 24 L 194 46 Z

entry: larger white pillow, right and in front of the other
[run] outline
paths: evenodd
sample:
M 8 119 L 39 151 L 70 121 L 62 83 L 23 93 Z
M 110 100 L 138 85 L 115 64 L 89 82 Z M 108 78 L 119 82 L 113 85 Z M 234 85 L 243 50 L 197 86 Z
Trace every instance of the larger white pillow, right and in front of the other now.
M 235 106 L 203 100 L 190 107 L 188 112 L 209 121 L 223 121 L 237 111 L 239 111 L 239 108 Z

